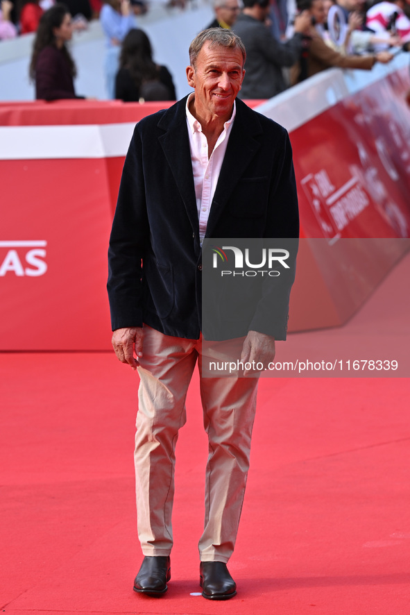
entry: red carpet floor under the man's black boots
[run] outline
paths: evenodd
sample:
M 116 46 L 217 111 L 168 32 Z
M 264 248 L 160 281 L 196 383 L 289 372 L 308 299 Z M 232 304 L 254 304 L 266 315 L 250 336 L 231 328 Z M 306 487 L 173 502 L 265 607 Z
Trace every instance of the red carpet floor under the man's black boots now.
M 291 344 L 318 353 L 379 331 L 380 355 L 395 340 L 408 357 L 408 267 L 342 329 Z M 409 378 L 261 380 L 230 562 L 238 594 L 213 603 L 191 595 L 207 455 L 197 378 L 178 443 L 172 579 L 155 600 L 132 591 L 136 375 L 109 353 L 2 353 L 0 369 L 1 612 L 410 614 Z

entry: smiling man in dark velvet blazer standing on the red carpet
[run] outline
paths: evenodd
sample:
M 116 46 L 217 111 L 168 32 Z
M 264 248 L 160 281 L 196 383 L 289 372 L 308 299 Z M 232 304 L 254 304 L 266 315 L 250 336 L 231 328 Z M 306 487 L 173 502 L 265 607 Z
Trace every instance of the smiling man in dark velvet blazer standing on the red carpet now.
M 175 447 L 198 360 L 210 450 L 200 586 L 204 598 L 227 600 L 237 593 L 226 564 L 244 499 L 257 375 L 201 373 L 202 246 L 207 237 L 298 237 L 298 205 L 286 130 L 236 100 L 246 58 L 239 37 L 204 31 L 189 58 L 194 92 L 135 128 L 110 238 L 108 292 L 114 351 L 140 377 L 135 470 L 144 560 L 134 589 L 162 596 L 171 577 Z M 266 327 L 248 322 L 243 362 L 273 360 L 287 312 L 285 302 Z

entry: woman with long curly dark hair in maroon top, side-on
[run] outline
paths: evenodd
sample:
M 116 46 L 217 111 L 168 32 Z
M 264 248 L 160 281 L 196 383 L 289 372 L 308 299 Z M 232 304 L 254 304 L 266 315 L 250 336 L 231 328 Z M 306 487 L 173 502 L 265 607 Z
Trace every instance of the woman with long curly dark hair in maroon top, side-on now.
M 74 91 L 76 65 L 67 49 L 72 33 L 71 15 L 65 4 L 55 4 L 44 12 L 35 35 L 30 63 L 36 99 L 84 98 Z

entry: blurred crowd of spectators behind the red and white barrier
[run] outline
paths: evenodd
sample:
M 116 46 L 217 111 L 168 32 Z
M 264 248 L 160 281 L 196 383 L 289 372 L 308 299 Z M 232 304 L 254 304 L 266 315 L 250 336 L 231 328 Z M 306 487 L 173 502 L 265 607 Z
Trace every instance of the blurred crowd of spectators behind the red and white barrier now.
M 183 10 L 187 0 L 164 0 Z M 204 28 L 232 29 L 243 40 L 244 99 L 268 99 L 328 67 L 371 69 L 410 45 L 410 0 L 214 0 Z M 74 29 L 100 19 L 108 99 L 175 100 L 168 67 L 155 63 L 136 27 L 146 0 L 1 1 L 0 40 L 35 32 L 30 75 L 36 98 L 81 98 L 68 43 Z M 172 67 L 171 67 L 172 71 Z

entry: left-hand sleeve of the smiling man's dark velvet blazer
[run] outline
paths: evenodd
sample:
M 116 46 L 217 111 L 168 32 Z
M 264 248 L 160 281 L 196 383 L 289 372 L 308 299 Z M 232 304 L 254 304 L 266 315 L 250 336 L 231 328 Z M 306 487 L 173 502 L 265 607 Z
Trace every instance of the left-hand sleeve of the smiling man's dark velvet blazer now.
M 137 127 L 123 167 L 108 250 L 108 298 L 112 330 L 142 327 L 142 258 L 149 238 Z

